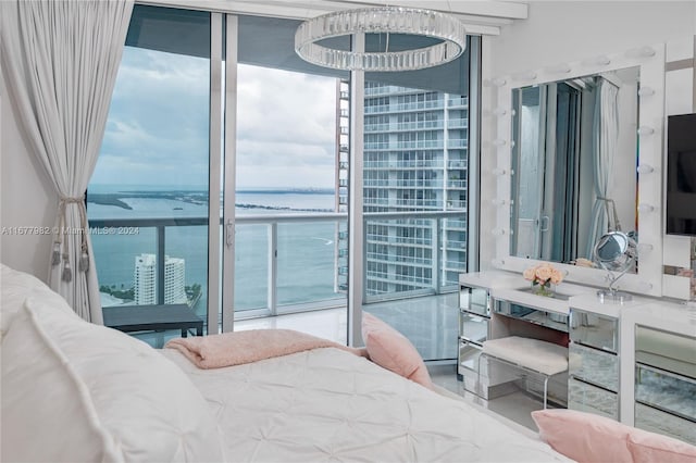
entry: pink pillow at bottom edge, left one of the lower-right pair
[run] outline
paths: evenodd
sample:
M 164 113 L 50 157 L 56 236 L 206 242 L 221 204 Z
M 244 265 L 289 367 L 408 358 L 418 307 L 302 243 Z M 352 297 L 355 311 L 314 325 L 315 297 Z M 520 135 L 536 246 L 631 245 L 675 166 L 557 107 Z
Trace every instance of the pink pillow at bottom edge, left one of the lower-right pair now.
M 532 418 L 539 428 L 542 440 L 571 460 L 580 463 L 633 462 L 627 443 L 632 428 L 626 425 L 566 409 L 535 411 Z

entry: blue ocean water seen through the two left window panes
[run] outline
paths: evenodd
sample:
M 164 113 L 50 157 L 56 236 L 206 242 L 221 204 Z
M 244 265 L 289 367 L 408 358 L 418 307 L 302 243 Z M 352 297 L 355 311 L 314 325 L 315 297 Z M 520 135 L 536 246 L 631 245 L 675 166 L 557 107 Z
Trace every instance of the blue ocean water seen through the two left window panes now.
M 207 217 L 203 188 L 90 185 L 89 220 Z M 238 217 L 333 212 L 335 197 L 327 190 L 237 191 Z M 335 292 L 335 222 L 277 225 L 278 304 L 343 298 Z M 265 224 L 237 224 L 235 233 L 235 311 L 268 306 L 269 236 Z M 222 233 L 222 229 L 221 229 Z M 124 228 L 113 235 L 91 234 L 99 285 L 120 295 L 134 287 L 135 259 L 157 253 L 157 228 Z M 204 318 L 208 291 L 208 227 L 166 226 L 165 254 L 185 260 L 185 284 L 201 286 L 194 309 Z M 102 291 L 102 304 L 124 303 Z M 128 302 L 127 302 L 128 303 Z M 129 302 L 133 303 L 133 302 Z

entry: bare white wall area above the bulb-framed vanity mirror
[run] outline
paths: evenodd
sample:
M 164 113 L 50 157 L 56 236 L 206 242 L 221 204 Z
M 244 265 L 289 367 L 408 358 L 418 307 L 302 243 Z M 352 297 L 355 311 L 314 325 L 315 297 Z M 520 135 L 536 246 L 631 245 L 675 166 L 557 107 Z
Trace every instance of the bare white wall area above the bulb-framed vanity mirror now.
M 693 1 L 531 1 L 490 42 L 492 75 L 536 70 L 694 35 Z M 485 58 L 485 57 L 484 57 Z

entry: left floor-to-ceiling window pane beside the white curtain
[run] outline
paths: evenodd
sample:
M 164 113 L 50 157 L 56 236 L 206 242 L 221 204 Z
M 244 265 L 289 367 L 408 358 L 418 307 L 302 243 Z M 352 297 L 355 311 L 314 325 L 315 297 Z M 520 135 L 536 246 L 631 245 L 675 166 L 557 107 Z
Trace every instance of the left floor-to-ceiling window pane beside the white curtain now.
M 209 109 L 210 13 L 136 5 L 87 196 L 104 311 L 207 320 Z

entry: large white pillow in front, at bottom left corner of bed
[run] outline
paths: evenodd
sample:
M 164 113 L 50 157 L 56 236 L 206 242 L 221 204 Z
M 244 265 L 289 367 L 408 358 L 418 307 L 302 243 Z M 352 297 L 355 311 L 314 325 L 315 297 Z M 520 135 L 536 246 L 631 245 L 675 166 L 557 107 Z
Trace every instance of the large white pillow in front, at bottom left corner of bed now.
M 28 298 L 2 345 L 2 461 L 222 461 L 184 372 L 135 338 Z

